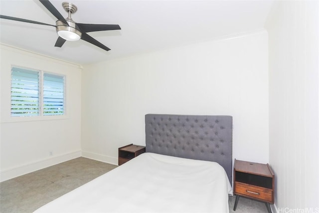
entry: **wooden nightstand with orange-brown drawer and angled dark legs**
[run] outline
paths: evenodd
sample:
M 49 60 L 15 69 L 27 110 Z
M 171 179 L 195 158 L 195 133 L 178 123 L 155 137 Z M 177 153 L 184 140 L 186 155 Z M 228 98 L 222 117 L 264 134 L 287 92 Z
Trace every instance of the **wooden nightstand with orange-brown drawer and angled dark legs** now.
M 270 204 L 275 198 L 275 174 L 269 164 L 258 164 L 247 161 L 234 163 L 234 194 L 236 201 L 234 211 L 240 196 L 265 202 L 271 213 Z

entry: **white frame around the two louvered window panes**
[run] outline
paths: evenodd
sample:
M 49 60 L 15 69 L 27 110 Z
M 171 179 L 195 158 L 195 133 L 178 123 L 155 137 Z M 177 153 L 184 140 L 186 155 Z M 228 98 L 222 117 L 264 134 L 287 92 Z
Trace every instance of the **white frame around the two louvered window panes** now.
M 39 86 L 39 113 L 36 116 L 11 116 L 11 82 L 12 82 L 12 69 L 13 67 L 32 70 L 32 71 L 38 71 L 39 72 L 39 78 L 38 78 L 38 86 Z M 44 114 L 44 73 L 51 74 L 51 75 L 57 75 L 63 77 L 63 115 L 45 115 Z M 7 122 L 23 122 L 23 121 L 41 121 L 41 120 L 57 120 L 57 119 L 67 119 L 67 101 L 66 101 L 66 79 L 67 76 L 62 73 L 52 72 L 52 71 L 45 71 L 42 69 L 34 69 L 29 68 L 25 66 L 19 66 L 19 65 L 11 65 L 10 67 L 10 89 L 9 89 L 9 98 L 10 98 L 10 105 L 9 105 L 9 115 L 8 115 L 8 121 Z M 5 119 L 6 120 L 6 119 Z M 6 122 L 1 122 L 6 123 Z

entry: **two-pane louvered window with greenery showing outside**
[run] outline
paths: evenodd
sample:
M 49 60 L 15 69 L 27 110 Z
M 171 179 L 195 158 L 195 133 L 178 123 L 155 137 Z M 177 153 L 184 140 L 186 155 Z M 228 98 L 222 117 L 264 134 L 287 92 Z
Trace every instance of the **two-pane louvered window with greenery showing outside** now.
M 64 115 L 64 78 L 63 75 L 12 67 L 11 117 Z

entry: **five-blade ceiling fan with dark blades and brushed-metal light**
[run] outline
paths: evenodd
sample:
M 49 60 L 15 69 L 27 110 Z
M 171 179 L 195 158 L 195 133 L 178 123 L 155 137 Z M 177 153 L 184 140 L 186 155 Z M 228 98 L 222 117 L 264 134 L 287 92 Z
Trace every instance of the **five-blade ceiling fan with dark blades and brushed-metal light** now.
M 22 21 L 27 23 L 42 24 L 48 26 L 54 26 L 59 37 L 55 42 L 56 47 L 61 47 L 66 40 L 76 41 L 79 39 L 85 40 L 91 44 L 94 44 L 106 51 L 110 48 L 100 43 L 93 37 L 87 34 L 87 32 L 94 31 L 104 31 L 104 30 L 116 30 L 121 29 L 118 24 L 89 24 L 89 23 L 76 23 L 72 20 L 71 14 L 77 11 L 77 7 L 73 3 L 63 2 L 62 6 L 66 12 L 68 12 L 68 17 L 64 18 L 61 13 L 53 6 L 53 4 L 48 0 L 39 0 L 58 20 L 55 25 L 42 23 L 33 20 L 27 20 L 23 18 L 11 17 L 7 15 L 0 15 L 0 18 Z

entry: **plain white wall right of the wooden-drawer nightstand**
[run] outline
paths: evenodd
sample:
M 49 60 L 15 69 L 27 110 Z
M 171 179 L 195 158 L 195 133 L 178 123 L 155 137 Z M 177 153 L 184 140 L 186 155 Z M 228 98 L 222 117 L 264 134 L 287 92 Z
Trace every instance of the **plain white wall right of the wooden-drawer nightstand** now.
M 266 26 L 275 204 L 279 212 L 318 212 L 319 2 L 278 1 L 273 9 Z

